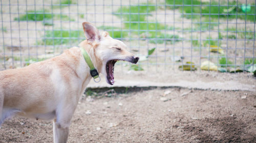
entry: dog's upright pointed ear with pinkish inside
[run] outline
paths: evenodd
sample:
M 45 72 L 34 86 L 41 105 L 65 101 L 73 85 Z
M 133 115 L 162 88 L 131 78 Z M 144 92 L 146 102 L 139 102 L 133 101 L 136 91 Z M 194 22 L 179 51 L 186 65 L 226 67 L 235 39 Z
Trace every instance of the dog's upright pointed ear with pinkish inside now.
M 89 22 L 83 22 L 82 23 L 83 27 L 83 32 L 86 35 L 86 39 L 89 41 L 100 41 L 100 34 L 99 31 L 96 27 L 94 27 L 91 23 Z

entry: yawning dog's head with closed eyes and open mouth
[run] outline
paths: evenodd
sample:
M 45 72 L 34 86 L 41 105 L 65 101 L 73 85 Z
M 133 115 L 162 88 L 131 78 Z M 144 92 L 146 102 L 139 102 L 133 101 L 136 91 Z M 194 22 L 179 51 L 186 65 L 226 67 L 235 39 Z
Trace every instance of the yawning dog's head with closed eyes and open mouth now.
M 106 81 L 114 84 L 114 65 L 118 60 L 137 63 L 139 57 L 128 52 L 126 45 L 117 39 L 110 37 L 108 32 L 99 33 L 98 29 L 89 22 L 83 22 L 83 31 L 89 42 L 93 43 L 94 56 L 101 64 L 101 73 Z

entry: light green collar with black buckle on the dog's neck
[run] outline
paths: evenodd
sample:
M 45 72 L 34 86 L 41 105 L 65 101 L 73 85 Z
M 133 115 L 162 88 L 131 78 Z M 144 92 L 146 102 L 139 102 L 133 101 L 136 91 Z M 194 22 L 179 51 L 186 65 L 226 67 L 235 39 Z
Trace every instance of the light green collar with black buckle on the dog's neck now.
M 93 77 L 93 80 L 95 81 L 95 79 L 99 78 L 99 81 L 95 81 L 95 82 L 100 82 L 99 73 L 98 73 L 97 69 L 95 69 L 93 62 L 92 62 L 90 56 L 88 55 L 87 51 L 84 50 L 82 47 L 80 47 L 80 50 L 82 52 L 82 56 L 83 56 L 84 60 L 86 60 L 86 63 L 90 67 L 90 74 Z

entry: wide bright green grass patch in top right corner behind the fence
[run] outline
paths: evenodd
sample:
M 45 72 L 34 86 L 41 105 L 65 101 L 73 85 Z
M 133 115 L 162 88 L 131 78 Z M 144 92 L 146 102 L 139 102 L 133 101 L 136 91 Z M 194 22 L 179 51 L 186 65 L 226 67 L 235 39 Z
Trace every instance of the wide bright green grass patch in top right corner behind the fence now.
M 184 3 L 183 3 L 184 2 Z M 228 7 L 227 6 L 223 6 L 223 5 L 227 5 L 227 2 L 221 2 L 220 3 L 220 7 L 219 6 L 200 6 L 200 5 L 219 5 L 218 1 L 211 1 L 211 3 L 209 2 L 202 2 L 201 0 L 166 0 L 166 4 L 168 5 L 198 5 L 198 6 L 184 6 L 183 10 L 184 13 L 188 14 L 188 15 L 184 15 L 186 18 L 199 18 L 200 15 L 190 15 L 192 13 L 202 13 L 205 15 L 202 15 L 202 17 L 206 17 L 209 18 L 209 13 L 210 14 L 216 14 L 216 15 L 210 15 L 211 18 L 218 18 L 218 15 L 220 18 L 230 18 L 230 19 L 234 19 L 236 18 L 236 15 L 229 15 L 229 14 L 236 14 L 238 13 L 238 18 L 240 19 L 247 19 L 250 21 L 254 21 L 254 7 L 255 5 L 252 4 L 251 5 L 251 10 L 250 12 L 247 12 L 247 14 L 252 14 L 252 15 L 246 15 L 245 13 L 242 12 L 241 9 L 241 4 L 238 4 L 238 7 L 234 6 L 232 7 L 231 5 L 237 5 L 237 3 L 235 1 L 233 2 L 229 2 L 228 3 Z M 170 6 L 170 9 L 179 9 L 182 12 L 182 6 Z M 202 12 L 201 12 L 202 11 Z M 228 13 L 227 13 L 228 11 Z

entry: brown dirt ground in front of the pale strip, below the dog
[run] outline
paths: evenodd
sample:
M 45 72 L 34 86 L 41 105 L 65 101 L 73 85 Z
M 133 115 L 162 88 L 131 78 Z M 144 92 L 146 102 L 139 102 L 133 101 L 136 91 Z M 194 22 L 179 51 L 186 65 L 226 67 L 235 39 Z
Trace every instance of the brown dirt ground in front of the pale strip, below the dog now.
M 256 141 L 255 92 L 178 87 L 114 90 L 117 93 L 111 97 L 81 99 L 69 142 Z M 52 141 L 48 121 L 15 117 L 0 128 L 0 142 Z

